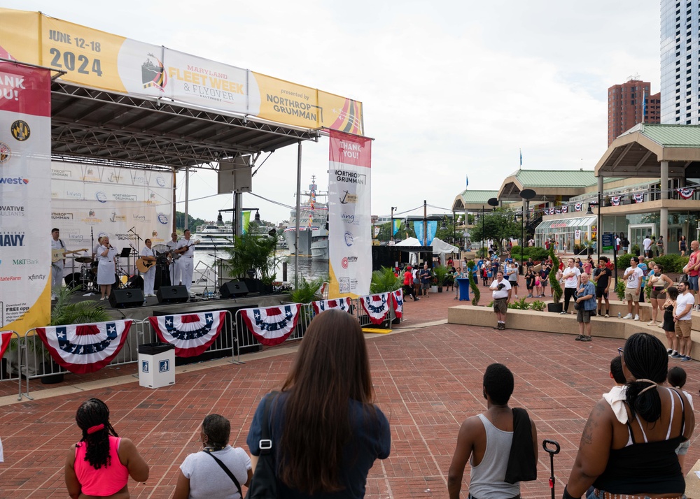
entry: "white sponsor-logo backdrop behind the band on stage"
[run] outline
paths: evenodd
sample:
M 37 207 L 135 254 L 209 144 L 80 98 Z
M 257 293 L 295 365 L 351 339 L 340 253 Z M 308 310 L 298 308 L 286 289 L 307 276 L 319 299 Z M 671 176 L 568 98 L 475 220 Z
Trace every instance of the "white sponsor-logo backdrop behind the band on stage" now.
M 91 231 L 94 244 L 106 235 L 117 250 L 130 244 L 140 250 L 146 238 L 154 245 L 165 244 L 170 240 L 171 212 L 171 173 L 51 163 L 51 224 L 61 229 L 68 250 L 92 252 Z M 132 228 L 142 239 L 138 245 Z M 65 273 L 71 270 L 66 260 Z

